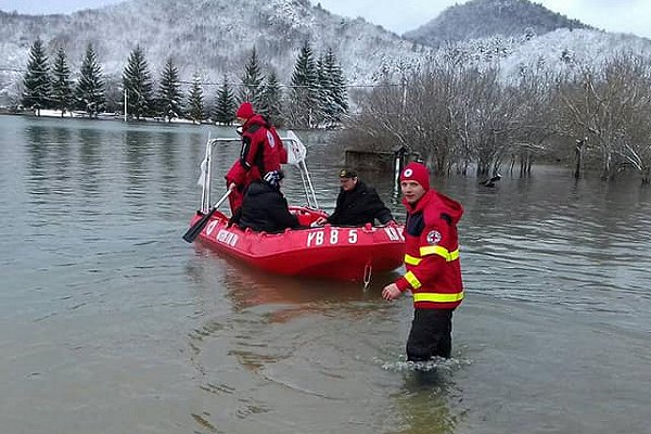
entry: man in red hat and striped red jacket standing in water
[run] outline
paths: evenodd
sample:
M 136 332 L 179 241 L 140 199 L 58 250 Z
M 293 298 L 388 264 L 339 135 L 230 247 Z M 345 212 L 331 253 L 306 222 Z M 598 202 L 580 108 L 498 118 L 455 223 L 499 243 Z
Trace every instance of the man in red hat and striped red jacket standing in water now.
M 457 224 L 463 214 L 458 202 L 430 189 L 430 173 L 409 163 L 400 174 L 407 272 L 382 290 L 387 301 L 410 290 L 413 321 L 407 340 L 407 360 L 449 358 L 452 311 L 463 299 Z

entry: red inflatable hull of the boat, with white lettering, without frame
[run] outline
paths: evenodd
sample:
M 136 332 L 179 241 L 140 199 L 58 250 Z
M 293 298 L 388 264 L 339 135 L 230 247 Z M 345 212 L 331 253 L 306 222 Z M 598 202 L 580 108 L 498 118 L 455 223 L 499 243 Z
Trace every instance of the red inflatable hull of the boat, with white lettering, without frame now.
M 294 212 L 305 215 L 304 208 Z M 195 216 L 191 225 L 202 216 Z M 365 281 L 371 273 L 391 271 L 404 260 L 403 226 L 334 227 L 254 232 L 228 227 L 216 212 L 197 240 L 253 267 L 285 276 Z

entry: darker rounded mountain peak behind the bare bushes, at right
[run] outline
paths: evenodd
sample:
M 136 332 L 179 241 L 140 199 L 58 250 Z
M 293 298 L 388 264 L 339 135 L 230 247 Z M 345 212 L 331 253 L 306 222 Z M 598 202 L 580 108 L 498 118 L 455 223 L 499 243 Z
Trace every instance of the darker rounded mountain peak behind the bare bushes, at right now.
M 591 28 L 577 20 L 528 0 L 472 0 L 444 10 L 437 17 L 403 35 L 418 43 L 444 42 L 519 35 L 544 35 L 558 28 Z

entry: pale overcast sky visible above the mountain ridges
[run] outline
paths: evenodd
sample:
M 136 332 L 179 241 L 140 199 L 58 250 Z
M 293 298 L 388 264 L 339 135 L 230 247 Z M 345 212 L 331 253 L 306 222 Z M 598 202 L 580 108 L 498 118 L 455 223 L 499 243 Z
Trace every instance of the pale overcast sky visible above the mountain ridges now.
M 123 0 L 0 0 L 0 10 L 20 13 L 69 13 L 99 8 Z M 182 0 L 179 0 L 182 1 Z M 240 0 L 233 0 L 240 1 Z M 312 4 L 319 0 L 311 0 Z M 651 38 L 651 0 L 537 0 L 546 8 L 570 18 L 609 31 L 633 33 Z M 463 0 L 320 0 L 321 5 L 339 15 L 380 24 L 403 34 L 434 18 L 445 8 Z

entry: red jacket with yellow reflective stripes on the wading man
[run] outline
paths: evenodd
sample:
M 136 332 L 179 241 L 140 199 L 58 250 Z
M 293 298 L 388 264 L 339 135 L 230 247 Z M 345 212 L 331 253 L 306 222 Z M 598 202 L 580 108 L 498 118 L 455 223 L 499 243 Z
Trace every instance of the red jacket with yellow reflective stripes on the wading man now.
M 458 202 L 429 190 L 407 208 L 405 224 L 405 276 L 396 280 L 410 290 L 419 309 L 454 309 L 463 299 L 457 224 L 463 214 Z

